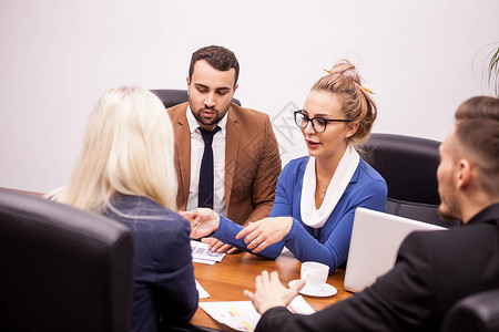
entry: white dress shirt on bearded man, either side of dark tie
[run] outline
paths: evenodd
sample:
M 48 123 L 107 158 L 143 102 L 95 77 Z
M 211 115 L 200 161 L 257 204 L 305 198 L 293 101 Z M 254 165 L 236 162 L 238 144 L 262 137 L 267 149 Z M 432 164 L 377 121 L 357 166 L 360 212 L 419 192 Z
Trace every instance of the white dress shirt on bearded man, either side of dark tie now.
M 227 112 L 228 113 L 228 112 Z M 200 124 L 192 114 L 191 106 L 187 105 L 187 123 L 191 132 L 191 185 L 189 188 L 189 199 L 186 209 L 197 207 L 197 195 L 200 191 L 200 168 L 204 153 L 204 141 L 201 136 Z M 220 131 L 213 136 L 213 210 L 227 215 L 225 204 L 225 135 L 227 126 L 227 114 L 218 122 Z

